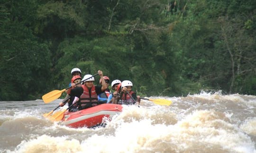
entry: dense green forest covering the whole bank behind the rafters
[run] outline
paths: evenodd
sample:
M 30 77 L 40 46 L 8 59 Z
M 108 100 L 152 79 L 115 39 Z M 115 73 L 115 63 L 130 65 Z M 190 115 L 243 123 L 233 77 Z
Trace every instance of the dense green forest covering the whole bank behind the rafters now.
M 1 0 L 1 101 L 64 89 L 75 67 L 140 95 L 256 94 L 256 0 Z

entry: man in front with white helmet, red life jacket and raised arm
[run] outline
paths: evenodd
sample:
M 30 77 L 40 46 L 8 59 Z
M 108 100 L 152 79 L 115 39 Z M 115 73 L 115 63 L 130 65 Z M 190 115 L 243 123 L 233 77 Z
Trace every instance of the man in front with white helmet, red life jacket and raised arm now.
M 83 84 L 80 87 L 75 87 L 71 90 L 71 96 L 79 97 L 73 101 L 73 103 L 77 102 L 78 110 L 87 109 L 101 104 L 98 101 L 98 95 L 107 89 L 107 85 L 101 70 L 98 70 L 98 74 L 101 76 L 101 85 L 94 85 L 94 77 L 87 74 L 82 79 L 85 80 Z

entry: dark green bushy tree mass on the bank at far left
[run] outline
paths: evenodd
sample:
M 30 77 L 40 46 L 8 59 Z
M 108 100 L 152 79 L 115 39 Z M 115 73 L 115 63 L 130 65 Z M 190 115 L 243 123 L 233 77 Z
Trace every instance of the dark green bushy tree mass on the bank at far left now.
M 50 52 L 46 44 L 38 42 L 30 25 L 27 25 L 28 20 L 33 20 L 27 9 L 34 9 L 34 1 L 19 2 L 10 6 L 6 3 L 4 7 L 6 16 L 1 25 L 0 100 L 26 100 L 28 95 L 39 98 L 38 94 L 47 89 L 45 83 L 49 76 Z M 21 3 L 25 3 L 27 9 L 21 7 Z

